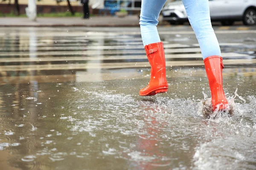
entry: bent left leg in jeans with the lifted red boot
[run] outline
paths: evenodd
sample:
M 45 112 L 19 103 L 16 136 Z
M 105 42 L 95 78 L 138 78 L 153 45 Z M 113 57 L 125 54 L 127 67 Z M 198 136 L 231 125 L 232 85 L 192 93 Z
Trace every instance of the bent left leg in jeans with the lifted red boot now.
M 166 0 L 142 0 L 140 29 L 144 48 L 151 65 L 151 76 L 148 85 L 140 90 L 141 96 L 151 96 L 166 92 L 166 61 L 163 42 L 157 32 L 158 17 Z

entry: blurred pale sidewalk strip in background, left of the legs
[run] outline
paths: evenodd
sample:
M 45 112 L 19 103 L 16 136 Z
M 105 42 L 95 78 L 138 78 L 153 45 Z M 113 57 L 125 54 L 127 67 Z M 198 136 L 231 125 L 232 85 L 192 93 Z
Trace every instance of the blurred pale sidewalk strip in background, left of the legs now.
M 160 19 L 161 21 L 162 19 Z M 131 15 L 124 18 L 104 16 L 91 17 L 89 20 L 79 17 L 39 17 L 36 22 L 23 17 L 0 17 L 0 26 L 139 26 L 139 17 Z

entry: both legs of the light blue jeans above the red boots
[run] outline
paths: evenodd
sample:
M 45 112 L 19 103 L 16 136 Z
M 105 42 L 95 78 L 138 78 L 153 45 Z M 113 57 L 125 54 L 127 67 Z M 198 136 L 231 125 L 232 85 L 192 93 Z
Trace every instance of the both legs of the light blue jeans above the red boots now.
M 221 49 L 212 29 L 208 0 L 182 0 L 189 22 L 195 32 L 203 58 L 218 55 Z M 143 45 L 160 42 L 157 32 L 158 17 L 166 0 L 142 0 L 140 30 Z

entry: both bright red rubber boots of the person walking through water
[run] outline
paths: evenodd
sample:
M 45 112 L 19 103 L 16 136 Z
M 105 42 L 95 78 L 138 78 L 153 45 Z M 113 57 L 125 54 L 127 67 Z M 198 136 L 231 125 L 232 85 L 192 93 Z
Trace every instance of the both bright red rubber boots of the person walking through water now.
M 140 90 L 140 95 L 152 96 L 167 92 L 168 83 L 163 42 L 146 45 L 145 51 L 151 65 L 151 77 L 147 87 Z M 204 59 L 204 65 L 212 94 L 212 109 L 227 109 L 229 106 L 222 85 L 222 69 L 224 68 L 222 57 L 207 57 Z

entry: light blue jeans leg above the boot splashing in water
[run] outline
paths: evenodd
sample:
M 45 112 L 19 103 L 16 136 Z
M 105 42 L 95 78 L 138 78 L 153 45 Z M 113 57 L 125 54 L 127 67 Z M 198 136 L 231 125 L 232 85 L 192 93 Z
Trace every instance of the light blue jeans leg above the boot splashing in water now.
M 213 55 L 221 56 L 218 40 L 212 29 L 208 0 L 182 1 L 188 14 L 189 23 L 198 39 L 203 58 Z

